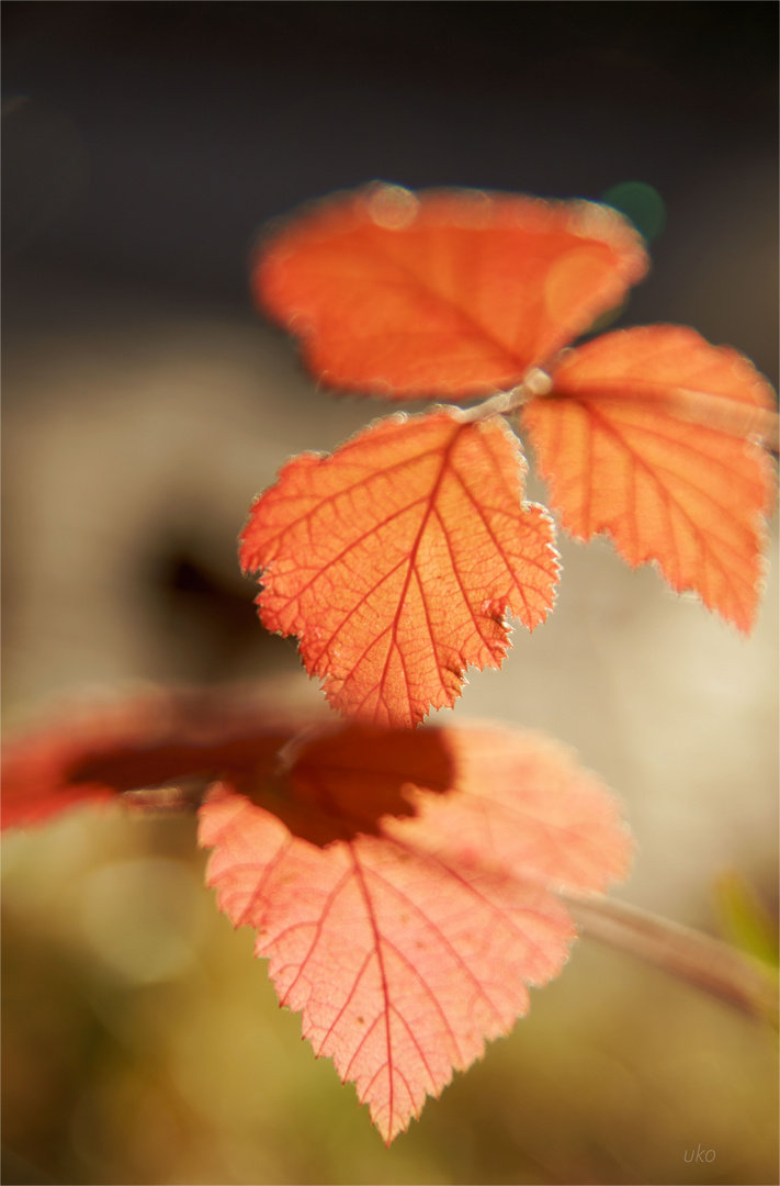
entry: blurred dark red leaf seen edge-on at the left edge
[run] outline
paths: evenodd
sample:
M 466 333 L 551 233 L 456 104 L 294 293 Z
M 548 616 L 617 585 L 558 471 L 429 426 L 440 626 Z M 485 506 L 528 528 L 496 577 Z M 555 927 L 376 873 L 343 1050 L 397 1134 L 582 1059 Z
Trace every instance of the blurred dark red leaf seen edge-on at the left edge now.
M 4 740 L 2 828 L 28 827 L 83 803 L 183 808 L 219 777 L 261 776 L 308 723 L 249 688 L 154 689 L 62 706 Z M 149 791 L 148 795 L 126 792 Z

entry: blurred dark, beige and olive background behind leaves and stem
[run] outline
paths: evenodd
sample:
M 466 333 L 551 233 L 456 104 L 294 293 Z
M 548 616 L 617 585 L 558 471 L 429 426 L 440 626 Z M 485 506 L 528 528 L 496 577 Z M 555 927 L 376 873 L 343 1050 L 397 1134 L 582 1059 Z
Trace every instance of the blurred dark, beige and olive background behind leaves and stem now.
M 692 325 L 776 385 L 774 4 L 2 17 L 7 729 L 154 681 L 318 697 L 236 562 L 286 457 L 383 412 L 318 394 L 251 310 L 252 243 L 300 202 L 606 195 L 652 240 L 618 324 Z M 776 525 L 749 639 L 606 543 L 562 551 L 555 614 L 455 712 L 575 746 L 627 803 L 620 897 L 749 946 L 776 919 Z M 192 820 L 114 811 L 4 843 L 4 1182 L 778 1180 L 774 1035 L 588 939 L 385 1152 L 204 860 Z

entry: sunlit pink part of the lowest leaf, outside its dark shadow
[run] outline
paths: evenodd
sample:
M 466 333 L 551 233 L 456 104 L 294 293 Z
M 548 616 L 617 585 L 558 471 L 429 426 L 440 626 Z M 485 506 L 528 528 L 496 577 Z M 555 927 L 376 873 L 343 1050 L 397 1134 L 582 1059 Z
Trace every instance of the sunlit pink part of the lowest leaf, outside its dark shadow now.
M 376 732 L 376 731 L 375 731 Z M 365 727 L 328 740 L 328 765 L 377 771 Z M 357 1085 L 389 1143 L 506 1034 L 567 961 L 576 929 L 555 891 L 599 892 L 624 876 L 631 841 L 615 801 L 571 755 L 532 733 L 484 727 L 388 734 L 449 748 L 452 790 L 405 795 L 416 816 L 325 848 L 228 788 L 200 808 L 207 882 L 318 1056 Z M 362 758 L 354 758 L 357 750 Z M 317 764 L 317 750 L 299 760 Z

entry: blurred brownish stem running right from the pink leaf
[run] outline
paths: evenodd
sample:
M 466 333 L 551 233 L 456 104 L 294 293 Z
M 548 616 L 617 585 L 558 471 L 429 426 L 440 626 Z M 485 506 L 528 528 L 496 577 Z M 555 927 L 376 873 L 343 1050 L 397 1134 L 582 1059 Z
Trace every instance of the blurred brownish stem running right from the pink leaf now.
M 613 898 L 562 895 L 586 936 L 628 951 L 748 1016 L 778 1026 L 772 969 L 720 939 Z

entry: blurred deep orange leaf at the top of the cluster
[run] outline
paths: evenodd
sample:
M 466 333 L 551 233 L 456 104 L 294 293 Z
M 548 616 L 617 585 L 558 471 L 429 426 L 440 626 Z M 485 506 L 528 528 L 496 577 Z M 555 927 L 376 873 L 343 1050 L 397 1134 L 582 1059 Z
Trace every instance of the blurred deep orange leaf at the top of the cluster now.
M 455 400 L 514 387 L 646 266 L 607 206 L 376 184 L 271 235 L 254 288 L 328 387 Z

